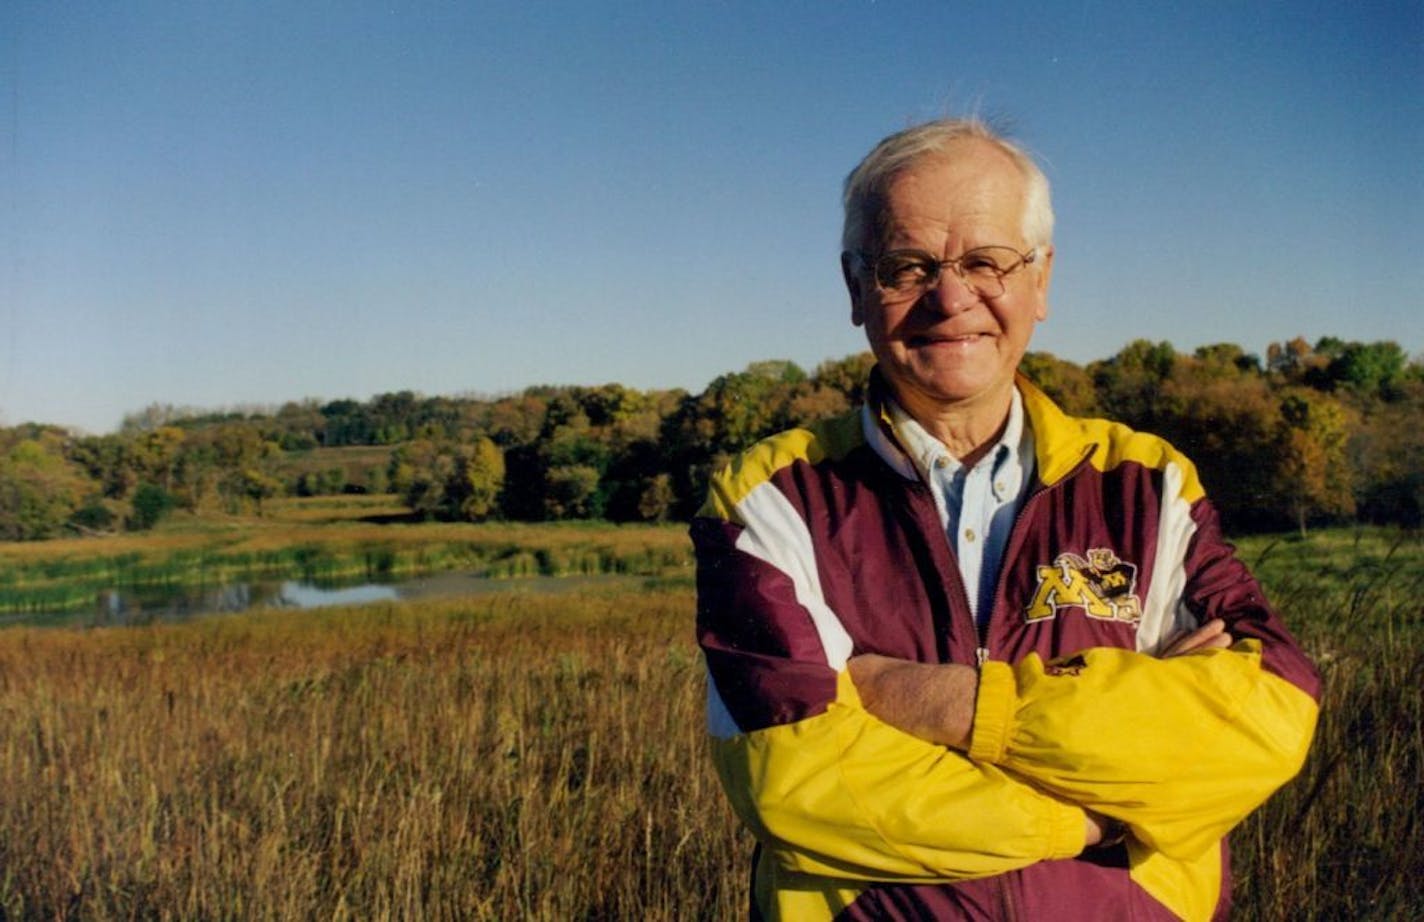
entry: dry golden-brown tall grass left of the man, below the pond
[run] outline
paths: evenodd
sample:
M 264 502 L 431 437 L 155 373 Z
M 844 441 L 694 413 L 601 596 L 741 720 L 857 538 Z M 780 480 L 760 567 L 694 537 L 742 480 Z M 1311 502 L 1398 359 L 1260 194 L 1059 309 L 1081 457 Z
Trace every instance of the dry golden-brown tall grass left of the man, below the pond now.
M 735 916 L 688 613 L 682 590 L 0 631 L 0 916 Z

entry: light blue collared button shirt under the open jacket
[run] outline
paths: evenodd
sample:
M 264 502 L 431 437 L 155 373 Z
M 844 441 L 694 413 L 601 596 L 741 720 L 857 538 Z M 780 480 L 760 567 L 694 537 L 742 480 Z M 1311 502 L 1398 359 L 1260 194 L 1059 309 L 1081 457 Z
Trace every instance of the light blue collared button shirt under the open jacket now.
M 950 455 L 893 399 L 889 410 L 900 445 L 934 494 L 974 620 L 983 627 L 994 607 L 1008 533 L 1034 473 L 1034 433 L 1024 420 L 1024 399 L 1015 388 L 1004 433 L 973 467 Z

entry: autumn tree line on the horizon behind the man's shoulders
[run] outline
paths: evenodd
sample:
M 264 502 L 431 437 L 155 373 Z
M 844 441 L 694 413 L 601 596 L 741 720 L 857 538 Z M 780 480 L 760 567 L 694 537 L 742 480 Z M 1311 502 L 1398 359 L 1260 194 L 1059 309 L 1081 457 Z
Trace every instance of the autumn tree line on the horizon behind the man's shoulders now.
M 498 398 L 151 406 L 111 435 L 0 429 L 0 539 L 152 527 L 175 509 L 256 512 L 282 494 L 394 493 L 413 517 L 688 519 L 708 473 L 759 437 L 856 405 L 869 353 L 813 372 L 756 362 L 701 393 L 534 386 Z M 1229 529 L 1424 520 L 1424 365 L 1333 336 L 1182 353 L 1136 341 L 1085 366 L 1021 371 L 1077 415 L 1190 456 Z

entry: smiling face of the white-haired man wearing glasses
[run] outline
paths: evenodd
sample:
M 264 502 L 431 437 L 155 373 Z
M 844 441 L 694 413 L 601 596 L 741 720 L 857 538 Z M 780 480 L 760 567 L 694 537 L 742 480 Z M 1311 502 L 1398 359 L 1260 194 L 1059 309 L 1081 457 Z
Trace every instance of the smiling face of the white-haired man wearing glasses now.
M 963 141 L 950 157 L 927 157 L 900 174 L 886 195 L 874 259 L 891 249 L 921 249 L 938 259 L 977 247 L 1030 249 L 1022 237 L 1024 180 L 1007 155 Z M 850 319 L 866 328 L 870 349 L 896 399 L 914 416 L 937 410 L 998 412 L 1034 325 L 1048 315 L 1052 248 L 1004 278 L 1001 295 L 968 288 L 948 266 L 916 295 L 881 292 L 869 266 L 843 265 Z

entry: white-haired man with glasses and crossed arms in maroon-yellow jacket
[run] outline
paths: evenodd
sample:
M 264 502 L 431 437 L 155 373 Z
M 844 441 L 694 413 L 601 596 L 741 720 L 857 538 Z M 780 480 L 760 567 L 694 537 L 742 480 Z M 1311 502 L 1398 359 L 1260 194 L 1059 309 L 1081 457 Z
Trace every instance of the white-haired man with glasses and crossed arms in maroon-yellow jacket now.
M 846 180 L 857 412 L 692 526 L 718 774 L 766 919 L 1208 919 L 1299 771 L 1317 677 L 1171 445 L 1015 376 L 1048 182 L 974 121 Z

